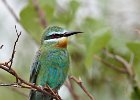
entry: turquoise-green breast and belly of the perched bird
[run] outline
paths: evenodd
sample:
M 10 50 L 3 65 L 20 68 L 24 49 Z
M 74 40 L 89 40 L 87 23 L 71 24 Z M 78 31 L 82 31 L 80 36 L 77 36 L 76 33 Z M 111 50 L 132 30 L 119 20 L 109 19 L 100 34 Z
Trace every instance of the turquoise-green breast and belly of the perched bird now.
M 69 56 L 66 49 L 48 51 L 41 57 L 41 69 L 38 76 L 39 85 L 48 84 L 58 89 L 64 83 L 69 69 Z

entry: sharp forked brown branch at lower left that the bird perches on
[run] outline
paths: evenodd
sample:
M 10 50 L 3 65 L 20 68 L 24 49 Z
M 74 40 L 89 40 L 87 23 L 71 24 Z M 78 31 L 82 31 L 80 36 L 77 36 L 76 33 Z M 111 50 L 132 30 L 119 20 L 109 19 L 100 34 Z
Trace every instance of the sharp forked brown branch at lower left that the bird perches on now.
M 16 29 L 16 26 L 15 26 L 15 29 Z M 13 52 L 12 52 L 12 56 L 11 56 L 10 61 L 5 62 L 5 63 L 0 63 L 0 68 L 5 70 L 6 72 L 10 73 L 12 76 L 14 76 L 16 78 L 16 82 L 11 83 L 11 84 L 2 83 L 2 84 L 0 84 L 0 86 L 12 86 L 12 87 L 18 87 L 18 88 L 27 88 L 27 89 L 42 92 L 45 95 L 50 95 L 56 100 L 61 100 L 60 96 L 57 93 L 54 93 L 54 91 L 49 86 L 47 86 L 49 91 L 46 91 L 45 88 L 41 88 L 39 86 L 34 85 L 33 83 L 26 82 L 16 73 L 15 70 L 12 69 L 11 66 L 13 63 L 16 44 L 17 44 L 18 39 L 21 35 L 21 32 L 18 34 L 17 29 L 16 29 L 16 33 L 17 33 L 17 39 L 16 39 L 15 44 L 14 44 L 14 48 L 13 48 Z M 10 63 L 10 65 L 9 65 L 9 63 Z

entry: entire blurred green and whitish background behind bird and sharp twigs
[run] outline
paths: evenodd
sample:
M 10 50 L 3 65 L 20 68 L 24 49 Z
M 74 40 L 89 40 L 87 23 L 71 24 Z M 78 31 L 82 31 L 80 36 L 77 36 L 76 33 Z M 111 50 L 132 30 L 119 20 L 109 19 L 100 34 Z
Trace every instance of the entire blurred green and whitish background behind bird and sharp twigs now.
M 23 79 L 29 79 L 43 29 L 57 25 L 84 32 L 69 38 L 69 75 L 80 77 L 96 100 L 140 100 L 139 0 L 1 0 L 0 9 L 0 63 L 11 57 L 17 25 L 22 35 L 13 68 Z M 11 82 L 15 78 L 0 70 L 0 83 Z M 69 88 L 60 89 L 64 100 L 89 99 L 75 82 Z M 0 100 L 27 100 L 28 93 L 0 87 Z

